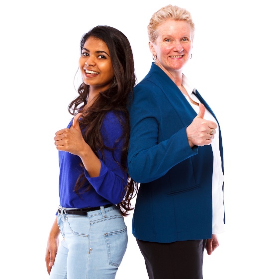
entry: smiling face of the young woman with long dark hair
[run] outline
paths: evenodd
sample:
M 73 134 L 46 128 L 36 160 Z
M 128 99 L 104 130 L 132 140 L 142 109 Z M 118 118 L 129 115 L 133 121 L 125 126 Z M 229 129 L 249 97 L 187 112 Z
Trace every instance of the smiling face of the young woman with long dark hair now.
M 108 47 L 98 38 L 89 37 L 86 40 L 79 67 L 84 83 L 90 86 L 90 92 L 103 91 L 113 82 L 114 73 Z

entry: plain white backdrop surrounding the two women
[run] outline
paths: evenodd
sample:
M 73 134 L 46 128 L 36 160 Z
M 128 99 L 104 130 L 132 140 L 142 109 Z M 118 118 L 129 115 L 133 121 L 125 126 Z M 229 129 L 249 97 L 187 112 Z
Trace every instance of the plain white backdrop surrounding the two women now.
M 1 274 L 47 279 L 44 256 L 58 199 L 54 133 L 66 127 L 80 39 L 93 26 L 121 30 L 136 75 L 148 72 L 147 24 L 169 3 L 196 25 L 184 73 L 222 131 L 226 232 L 204 255 L 204 279 L 279 278 L 278 14 L 272 0 L 15 0 L 0 7 Z M 135 200 L 134 200 L 135 201 Z M 148 279 L 125 218 L 128 248 L 117 279 Z

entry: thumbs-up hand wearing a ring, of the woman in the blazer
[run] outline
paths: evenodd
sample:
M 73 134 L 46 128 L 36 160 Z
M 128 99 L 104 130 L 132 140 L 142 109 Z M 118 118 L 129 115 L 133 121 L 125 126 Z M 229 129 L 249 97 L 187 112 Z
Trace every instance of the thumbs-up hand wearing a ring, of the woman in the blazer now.
M 204 119 L 205 107 L 202 103 L 199 104 L 199 112 L 193 119 L 192 123 L 186 128 L 186 134 L 189 146 L 209 145 L 214 139 L 217 124 L 213 121 Z

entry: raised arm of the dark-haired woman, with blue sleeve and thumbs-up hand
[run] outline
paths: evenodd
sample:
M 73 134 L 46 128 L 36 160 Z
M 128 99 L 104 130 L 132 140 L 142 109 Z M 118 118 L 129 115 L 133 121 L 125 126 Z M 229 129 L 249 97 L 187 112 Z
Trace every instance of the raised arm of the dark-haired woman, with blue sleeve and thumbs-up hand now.
M 78 155 L 85 166 L 85 176 L 96 192 L 117 204 L 123 199 L 123 190 L 127 185 L 127 174 L 118 165 L 121 161 L 123 141 L 114 146 L 122 134 L 121 124 L 113 112 L 108 112 L 104 117 L 100 131 L 103 142 L 108 148 L 115 147 L 115 150 L 104 149 L 104 158 L 99 159 L 82 136 L 78 121 L 80 115 L 78 113 L 74 117 L 72 128 L 56 133 L 55 145 L 58 150 Z M 101 156 L 100 153 L 99 155 Z

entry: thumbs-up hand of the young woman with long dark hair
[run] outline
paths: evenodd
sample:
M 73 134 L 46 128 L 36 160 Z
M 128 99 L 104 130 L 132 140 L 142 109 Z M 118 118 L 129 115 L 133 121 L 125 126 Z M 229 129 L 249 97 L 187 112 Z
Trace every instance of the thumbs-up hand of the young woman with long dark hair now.
M 74 155 L 82 156 L 90 148 L 85 142 L 81 129 L 79 118 L 82 113 L 78 113 L 73 119 L 73 125 L 70 128 L 59 130 L 55 133 L 54 144 L 56 149 L 67 151 Z

